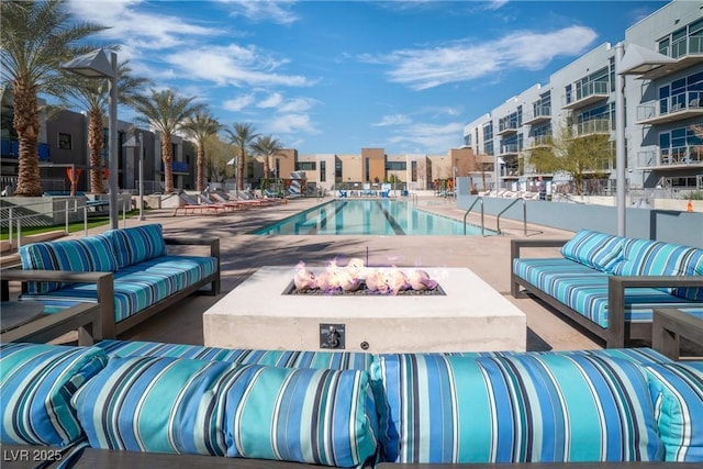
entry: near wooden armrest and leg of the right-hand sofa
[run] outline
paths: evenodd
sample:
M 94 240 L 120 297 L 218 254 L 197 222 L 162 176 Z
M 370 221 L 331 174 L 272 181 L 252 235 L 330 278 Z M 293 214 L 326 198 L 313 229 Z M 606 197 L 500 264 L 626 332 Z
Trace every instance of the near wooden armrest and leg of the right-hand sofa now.
M 611 276 L 607 278 L 607 347 L 625 346 L 625 290 L 703 287 L 703 276 Z

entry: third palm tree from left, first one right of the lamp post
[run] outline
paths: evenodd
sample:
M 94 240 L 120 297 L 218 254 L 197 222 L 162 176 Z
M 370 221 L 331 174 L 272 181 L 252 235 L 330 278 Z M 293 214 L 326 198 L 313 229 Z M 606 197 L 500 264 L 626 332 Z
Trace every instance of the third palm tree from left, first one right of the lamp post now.
M 150 97 L 136 97 L 134 110 L 140 122 L 161 133 L 161 160 L 164 161 L 164 192 L 174 191 L 174 148 L 171 138 L 182 129 L 188 118 L 202 110 L 204 104 L 193 104 L 194 97 L 185 98 L 171 90 L 152 90 Z

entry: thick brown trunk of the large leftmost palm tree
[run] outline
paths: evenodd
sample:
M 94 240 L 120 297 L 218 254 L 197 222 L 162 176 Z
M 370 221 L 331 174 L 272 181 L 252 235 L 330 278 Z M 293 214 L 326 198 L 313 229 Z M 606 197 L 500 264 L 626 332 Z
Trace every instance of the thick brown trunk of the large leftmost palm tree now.
M 40 114 L 36 105 L 36 89 L 22 82 L 21 77 L 12 82 L 14 93 L 14 130 L 18 133 L 18 187 L 14 194 L 41 197 L 37 141 Z

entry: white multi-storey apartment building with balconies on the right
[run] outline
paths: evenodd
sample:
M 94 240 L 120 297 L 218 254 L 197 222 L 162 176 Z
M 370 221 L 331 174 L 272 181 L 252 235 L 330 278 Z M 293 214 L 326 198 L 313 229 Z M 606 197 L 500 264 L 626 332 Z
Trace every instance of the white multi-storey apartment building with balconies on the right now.
M 703 138 L 693 129 L 703 124 L 703 3 L 673 1 L 627 29 L 622 43 L 622 64 L 640 58 L 639 68 L 616 70 L 620 48 L 604 43 L 465 126 L 465 146 L 495 163 L 491 183 L 529 190 L 543 176 L 566 185 L 567 174 L 539 174 L 531 150 L 568 129 L 574 138 L 607 135 L 615 155 L 622 125 L 631 189 L 703 189 Z M 646 58 L 636 56 L 643 49 Z M 615 119 L 618 71 L 624 122 Z M 614 190 L 615 158 L 589 169 L 609 175 L 594 187 Z

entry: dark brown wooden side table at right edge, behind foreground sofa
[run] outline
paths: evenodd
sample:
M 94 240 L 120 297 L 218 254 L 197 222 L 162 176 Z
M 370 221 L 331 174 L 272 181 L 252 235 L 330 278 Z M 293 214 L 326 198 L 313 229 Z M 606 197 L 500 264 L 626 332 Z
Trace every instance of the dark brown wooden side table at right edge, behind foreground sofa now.
M 703 346 L 703 320 L 676 308 L 655 309 L 651 324 L 651 347 L 678 360 L 680 337 Z

